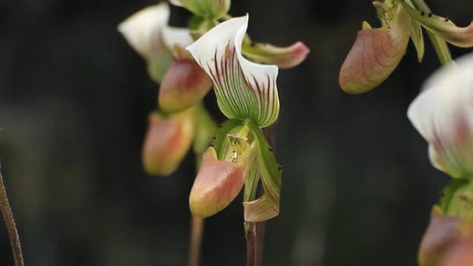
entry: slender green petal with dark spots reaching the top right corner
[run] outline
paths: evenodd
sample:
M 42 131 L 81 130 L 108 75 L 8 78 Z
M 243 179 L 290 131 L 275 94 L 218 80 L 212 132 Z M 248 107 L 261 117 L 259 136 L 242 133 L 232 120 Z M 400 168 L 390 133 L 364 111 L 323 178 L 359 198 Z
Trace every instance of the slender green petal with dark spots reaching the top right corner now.
M 408 3 L 405 3 L 405 1 L 400 2 L 409 15 L 430 32 L 440 36 L 454 46 L 473 46 L 473 22 L 466 27 L 458 27 L 445 17 L 439 17 L 430 12 L 418 11 L 412 8 Z

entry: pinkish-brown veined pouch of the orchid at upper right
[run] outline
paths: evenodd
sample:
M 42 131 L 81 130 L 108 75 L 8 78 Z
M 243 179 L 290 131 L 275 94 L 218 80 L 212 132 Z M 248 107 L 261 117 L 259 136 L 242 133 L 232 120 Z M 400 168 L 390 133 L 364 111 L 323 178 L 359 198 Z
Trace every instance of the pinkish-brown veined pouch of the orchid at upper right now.
M 340 87 L 346 93 L 365 93 L 384 82 L 405 55 L 411 19 L 402 6 L 374 2 L 383 26 L 363 23 L 355 44 L 340 70 Z M 419 41 L 417 41 L 420 44 Z

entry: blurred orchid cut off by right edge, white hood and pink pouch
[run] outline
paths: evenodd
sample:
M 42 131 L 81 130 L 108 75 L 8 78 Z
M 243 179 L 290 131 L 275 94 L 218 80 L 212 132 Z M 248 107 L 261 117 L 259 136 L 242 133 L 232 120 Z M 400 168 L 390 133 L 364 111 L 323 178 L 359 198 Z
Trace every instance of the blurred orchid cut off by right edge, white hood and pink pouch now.
M 452 176 L 419 250 L 420 266 L 471 265 L 473 251 L 473 54 L 438 70 L 407 115 L 429 158 Z

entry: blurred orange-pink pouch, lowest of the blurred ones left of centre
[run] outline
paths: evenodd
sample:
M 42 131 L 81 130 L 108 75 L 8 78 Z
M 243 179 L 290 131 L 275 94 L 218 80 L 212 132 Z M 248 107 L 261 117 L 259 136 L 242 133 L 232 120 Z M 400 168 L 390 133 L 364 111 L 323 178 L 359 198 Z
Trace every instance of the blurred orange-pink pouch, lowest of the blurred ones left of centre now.
M 194 137 L 194 110 L 192 108 L 163 117 L 149 115 L 149 128 L 142 149 L 142 162 L 150 175 L 172 173 L 183 160 Z

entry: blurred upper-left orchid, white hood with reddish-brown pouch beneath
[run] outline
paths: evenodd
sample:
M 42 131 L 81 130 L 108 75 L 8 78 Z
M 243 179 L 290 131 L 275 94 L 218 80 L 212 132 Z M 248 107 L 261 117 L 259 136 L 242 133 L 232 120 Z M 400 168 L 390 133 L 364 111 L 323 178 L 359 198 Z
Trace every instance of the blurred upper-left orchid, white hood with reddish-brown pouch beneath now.
M 167 26 L 168 19 L 169 6 L 159 3 L 132 15 L 118 30 L 147 61 L 151 78 L 161 84 L 161 110 L 176 113 L 203 99 L 212 83 L 184 50 L 194 41 L 189 30 Z

